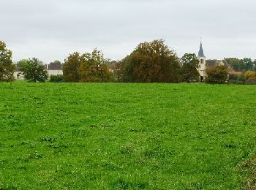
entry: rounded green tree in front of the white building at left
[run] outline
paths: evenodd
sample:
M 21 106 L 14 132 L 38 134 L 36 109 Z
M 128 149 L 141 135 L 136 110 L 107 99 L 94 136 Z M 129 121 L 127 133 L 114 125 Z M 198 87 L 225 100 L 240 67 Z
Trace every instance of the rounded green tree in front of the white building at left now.
M 37 58 L 23 59 L 18 64 L 21 66 L 20 71 L 26 80 L 44 83 L 48 79 L 48 73 L 44 70 L 42 61 Z

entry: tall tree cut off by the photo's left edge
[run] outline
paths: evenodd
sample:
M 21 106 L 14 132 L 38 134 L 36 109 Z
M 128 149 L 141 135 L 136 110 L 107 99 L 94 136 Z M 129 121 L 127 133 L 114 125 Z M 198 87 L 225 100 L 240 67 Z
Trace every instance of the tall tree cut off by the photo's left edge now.
M 5 42 L 0 41 L 0 81 L 14 80 L 14 71 L 12 51 L 7 49 Z

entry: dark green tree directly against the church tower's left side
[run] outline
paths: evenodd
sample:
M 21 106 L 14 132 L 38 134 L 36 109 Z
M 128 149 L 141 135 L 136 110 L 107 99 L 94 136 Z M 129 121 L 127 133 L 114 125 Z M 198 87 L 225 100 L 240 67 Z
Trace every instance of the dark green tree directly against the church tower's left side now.
M 181 74 L 183 80 L 187 83 L 190 83 L 192 80 L 199 80 L 199 72 L 197 68 L 199 67 L 199 60 L 195 53 L 185 53 L 181 58 L 182 66 L 181 66 Z

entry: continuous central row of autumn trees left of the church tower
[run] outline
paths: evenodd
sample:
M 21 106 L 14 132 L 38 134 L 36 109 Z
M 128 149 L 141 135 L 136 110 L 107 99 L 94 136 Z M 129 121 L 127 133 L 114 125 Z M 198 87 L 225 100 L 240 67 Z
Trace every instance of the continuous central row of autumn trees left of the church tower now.
M 97 49 L 72 53 L 64 62 L 63 77 L 65 82 L 179 83 L 198 80 L 198 66 L 195 54 L 186 53 L 180 59 L 158 39 L 140 43 L 121 61 L 109 61 Z

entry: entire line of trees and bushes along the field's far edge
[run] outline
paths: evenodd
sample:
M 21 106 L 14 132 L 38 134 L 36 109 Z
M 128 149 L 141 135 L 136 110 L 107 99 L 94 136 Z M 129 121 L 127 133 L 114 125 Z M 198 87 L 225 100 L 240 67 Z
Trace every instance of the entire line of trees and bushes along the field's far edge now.
M 235 70 L 255 70 L 255 61 L 250 58 L 225 58 Z M 58 63 L 57 63 L 58 62 Z M 61 64 L 56 61 L 56 64 Z M 112 68 L 110 69 L 110 66 Z M 37 58 L 18 61 L 23 77 L 31 82 L 45 82 L 47 71 Z M 142 42 L 120 61 L 110 61 L 102 50 L 91 53 L 74 52 L 65 59 L 63 76 L 51 76 L 53 82 L 122 82 L 122 83 L 180 83 L 199 80 L 199 60 L 195 53 L 185 53 L 178 58 L 176 52 L 163 39 Z M 14 80 L 12 51 L 0 41 L 0 81 Z M 225 83 L 227 66 L 212 66 L 206 70 L 207 83 Z

